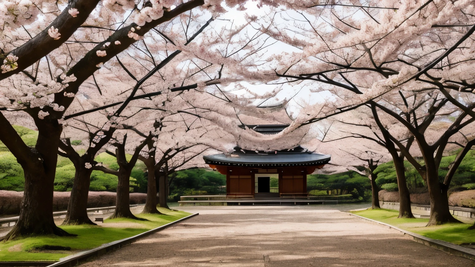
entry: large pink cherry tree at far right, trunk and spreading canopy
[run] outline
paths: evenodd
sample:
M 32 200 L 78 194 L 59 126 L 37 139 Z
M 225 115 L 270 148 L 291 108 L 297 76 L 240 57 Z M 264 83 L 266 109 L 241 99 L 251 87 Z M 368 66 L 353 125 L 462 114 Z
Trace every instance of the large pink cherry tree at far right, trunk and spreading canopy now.
M 439 185 L 437 170 L 446 140 L 469 125 L 474 114 L 471 105 L 474 77 L 466 71 L 473 68 L 473 5 L 470 1 L 433 0 L 308 7 L 286 12 L 285 19 L 299 23 L 275 24 L 275 29 L 293 30 L 295 34 L 281 40 L 302 49 L 292 57 L 281 57 L 280 66 L 286 67 L 276 68 L 276 76 L 281 78 L 279 82 L 318 84 L 313 92 L 330 92 L 335 100 L 303 109 L 299 114 L 304 121 L 301 125 L 367 104 L 374 105 L 377 113 L 382 111 L 397 119 L 414 136 L 425 160 L 427 171 L 423 174 L 431 197 L 428 225 L 453 221 L 445 201 L 447 191 Z M 433 90 L 446 100 L 435 97 L 433 110 L 424 117 L 430 121 L 425 126 L 419 124 L 421 114 L 411 121 L 400 114 L 410 110 L 401 96 L 431 95 Z M 400 105 L 391 110 L 388 102 Z M 432 115 L 438 116 L 437 110 L 448 102 L 461 112 L 458 120 L 449 126 L 440 142 L 428 143 L 423 133 L 426 124 L 432 123 L 430 114 L 434 112 Z M 391 141 L 411 161 L 404 145 Z M 414 164 L 417 169 L 419 166 Z

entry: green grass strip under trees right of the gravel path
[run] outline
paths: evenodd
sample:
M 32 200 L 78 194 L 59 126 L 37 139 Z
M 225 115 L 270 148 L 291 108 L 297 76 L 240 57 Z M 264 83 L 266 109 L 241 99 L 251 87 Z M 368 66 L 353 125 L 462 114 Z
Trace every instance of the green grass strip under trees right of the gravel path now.
M 352 211 L 353 214 L 374 219 L 392 226 L 404 229 L 421 236 L 461 244 L 475 244 L 475 230 L 469 230 L 472 226 L 466 223 L 447 223 L 437 226 L 426 227 L 429 219 L 398 219 L 398 210 L 359 210 Z

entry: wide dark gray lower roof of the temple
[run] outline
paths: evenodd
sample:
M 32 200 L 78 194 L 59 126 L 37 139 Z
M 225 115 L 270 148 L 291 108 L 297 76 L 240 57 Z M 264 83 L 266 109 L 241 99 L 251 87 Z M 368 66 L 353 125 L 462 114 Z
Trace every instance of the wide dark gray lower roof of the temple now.
M 315 166 L 328 163 L 330 158 L 331 155 L 316 153 L 239 154 L 237 156 L 216 154 L 203 156 L 206 164 L 248 167 Z

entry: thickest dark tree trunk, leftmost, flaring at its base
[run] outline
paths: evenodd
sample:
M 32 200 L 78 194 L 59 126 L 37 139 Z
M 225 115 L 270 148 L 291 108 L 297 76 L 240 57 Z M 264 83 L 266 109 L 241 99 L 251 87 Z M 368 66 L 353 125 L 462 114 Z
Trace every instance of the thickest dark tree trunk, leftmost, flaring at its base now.
M 25 191 L 19 219 L 3 238 L 5 241 L 27 235 L 73 236 L 57 227 L 53 219 L 53 188 L 62 126 L 43 123 L 38 130 L 36 151 L 33 151 L 37 156 L 30 162 L 19 162 L 25 173 Z

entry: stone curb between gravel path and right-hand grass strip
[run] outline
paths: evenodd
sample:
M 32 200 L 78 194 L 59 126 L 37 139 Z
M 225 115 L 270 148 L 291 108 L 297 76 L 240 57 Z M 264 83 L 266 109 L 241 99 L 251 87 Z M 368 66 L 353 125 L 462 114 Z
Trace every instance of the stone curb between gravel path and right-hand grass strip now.
M 348 213 L 352 216 L 359 217 L 361 219 L 376 222 L 376 223 L 388 226 L 389 228 L 398 230 L 399 232 L 402 232 L 404 234 L 412 236 L 414 238 L 414 241 L 416 241 L 418 243 L 421 243 L 421 244 L 424 244 L 428 247 L 437 248 L 439 250 L 447 252 L 450 255 L 455 255 L 455 256 L 458 256 L 458 257 L 465 257 L 465 258 L 468 258 L 468 259 L 471 259 L 471 260 L 475 260 L 475 249 L 465 248 L 465 247 L 462 247 L 462 246 L 459 246 L 459 245 L 456 245 L 456 244 L 452 244 L 452 243 L 449 243 L 449 242 L 446 242 L 446 241 L 442 241 L 442 240 L 427 238 L 427 237 L 415 234 L 413 232 L 409 232 L 409 231 L 406 231 L 406 230 L 403 230 L 403 229 L 399 229 L 397 227 L 394 227 L 394 226 L 392 226 L 390 224 L 387 224 L 387 223 L 384 223 L 384 222 L 364 218 L 362 216 L 359 216 L 359 215 L 356 215 L 356 214 L 353 214 L 353 213 L 349 213 L 349 212 L 346 212 L 346 213 Z

